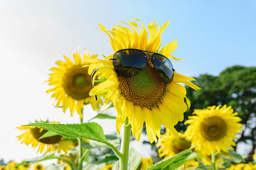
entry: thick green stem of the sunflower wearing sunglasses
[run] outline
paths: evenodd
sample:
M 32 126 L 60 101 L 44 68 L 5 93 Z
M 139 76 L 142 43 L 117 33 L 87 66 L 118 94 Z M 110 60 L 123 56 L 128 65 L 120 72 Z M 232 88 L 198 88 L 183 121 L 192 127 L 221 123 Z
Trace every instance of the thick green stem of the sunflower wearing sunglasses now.
M 128 118 L 126 118 L 125 123 L 123 124 L 123 134 L 122 134 L 122 142 L 121 142 L 122 157 L 119 158 L 121 170 L 127 170 L 127 167 L 128 167 L 131 125 L 128 125 L 128 126 L 127 125 L 128 125 Z

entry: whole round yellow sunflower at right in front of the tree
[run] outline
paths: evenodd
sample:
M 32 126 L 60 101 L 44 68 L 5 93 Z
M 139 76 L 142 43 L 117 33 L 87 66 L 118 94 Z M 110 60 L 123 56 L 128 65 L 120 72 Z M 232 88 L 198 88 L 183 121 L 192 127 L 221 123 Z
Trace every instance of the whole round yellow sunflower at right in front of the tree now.
M 210 155 L 211 152 L 228 152 L 228 148 L 236 146 L 233 139 L 240 132 L 242 124 L 238 114 L 233 113 L 231 107 L 221 105 L 207 107 L 207 109 L 195 109 L 185 124 L 190 124 L 185 131 L 188 141 L 196 150 L 203 155 Z

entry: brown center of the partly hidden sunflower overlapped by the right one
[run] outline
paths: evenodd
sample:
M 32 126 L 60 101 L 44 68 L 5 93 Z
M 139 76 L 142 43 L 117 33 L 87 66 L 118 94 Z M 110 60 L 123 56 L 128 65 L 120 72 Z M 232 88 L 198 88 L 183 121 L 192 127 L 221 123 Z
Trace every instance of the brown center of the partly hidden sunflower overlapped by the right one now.
M 179 152 L 187 150 L 189 147 L 191 147 L 191 142 L 186 141 L 184 138 L 176 138 L 171 142 L 171 150 L 175 154 L 179 154 Z

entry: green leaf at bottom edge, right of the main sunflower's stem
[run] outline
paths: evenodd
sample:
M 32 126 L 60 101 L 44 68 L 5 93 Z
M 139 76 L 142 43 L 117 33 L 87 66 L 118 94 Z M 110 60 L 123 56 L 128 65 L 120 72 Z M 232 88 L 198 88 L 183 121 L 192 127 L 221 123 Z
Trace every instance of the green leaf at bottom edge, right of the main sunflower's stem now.
M 171 158 L 163 159 L 151 167 L 147 168 L 147 170 L 156 170 L 156 169 L 177 169 L 181 165 L 183 165 L 188 156 L 191 154 L 192 148 L 189 148 L 185 151 L 180 152 L 179 154 L 172 156 Z

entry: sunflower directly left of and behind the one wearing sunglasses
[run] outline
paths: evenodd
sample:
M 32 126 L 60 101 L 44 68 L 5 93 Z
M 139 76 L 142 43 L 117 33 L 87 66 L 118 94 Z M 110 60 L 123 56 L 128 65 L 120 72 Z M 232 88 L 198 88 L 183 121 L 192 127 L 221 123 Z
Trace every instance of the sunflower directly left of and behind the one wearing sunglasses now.
M 57 103 L 55 107 L 63 108 L 63 112 L 67 108 L 70 109 L 71 116 L 76 111 L 82 118 L 82 109 L 85 104 L 91 104 L 94 110 L 98 110 L 102 100 L 95 100 L 94 96 L 89 96 L 89 91 L 92 89 L 92 82 L 88 74 L 87 59 L 90 58 L 89 52 L 84 53 L 82 59 L 80 54 L 73 54 L 75 63 L 64 55 L 65 61 L 56 61 L 59 67 L 53 67 L 50 70 L 53 73 L 49 74 L 49 86 L 53 86 L 47 90 L 47 94 L 52 93 L 51 98 L 55 97 Z M 91 56 L 97 58 L 97 54 Z

